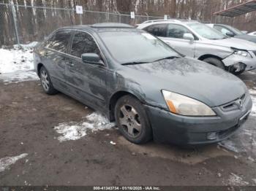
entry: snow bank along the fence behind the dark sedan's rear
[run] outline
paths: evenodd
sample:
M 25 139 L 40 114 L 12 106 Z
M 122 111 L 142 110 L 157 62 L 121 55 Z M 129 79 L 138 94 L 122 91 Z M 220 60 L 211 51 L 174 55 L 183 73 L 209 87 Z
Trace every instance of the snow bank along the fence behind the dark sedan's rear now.
M 37 42 L 14 45 L 10 50 L 0 49 L 0 79 L 6 84 L 37 80 L 34 72 L 33 47 Z

